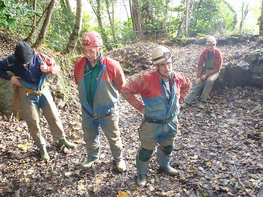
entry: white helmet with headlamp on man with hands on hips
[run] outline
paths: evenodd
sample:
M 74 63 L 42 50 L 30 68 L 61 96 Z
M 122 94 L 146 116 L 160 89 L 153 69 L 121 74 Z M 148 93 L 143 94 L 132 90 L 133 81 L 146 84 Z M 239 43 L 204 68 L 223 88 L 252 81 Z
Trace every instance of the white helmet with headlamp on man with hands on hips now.
M 152 52 L 152 62 L 154 65 L 167 60 L 170 57 L 172 57 L 172 53 L 164 46 L 156 47 Z

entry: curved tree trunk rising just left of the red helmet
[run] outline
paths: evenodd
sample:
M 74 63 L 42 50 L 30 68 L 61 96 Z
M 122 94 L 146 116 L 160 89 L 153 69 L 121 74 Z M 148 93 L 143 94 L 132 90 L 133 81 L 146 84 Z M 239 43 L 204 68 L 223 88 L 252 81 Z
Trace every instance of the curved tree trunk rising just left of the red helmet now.
M 82 27 L 82 2 L 81 0 L 77 0 L 77 11 L 76 11 L 76 20 L 73 31 L 69 36 L 68 45 L 66 47 L 66 52 L 72 54 L 74 47 L 79 38 L 79 33 Z

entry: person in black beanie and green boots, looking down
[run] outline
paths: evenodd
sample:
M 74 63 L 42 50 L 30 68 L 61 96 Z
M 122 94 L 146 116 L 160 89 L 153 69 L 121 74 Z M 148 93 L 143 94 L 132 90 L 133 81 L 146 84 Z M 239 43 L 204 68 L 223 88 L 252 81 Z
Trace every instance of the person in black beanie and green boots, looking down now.
M 7 71 L 14 73 L 15 76 L 9 75 Z M 17 43 L 14 54 L 0 61 L 0 77 L 19 87 L 21 112 L 43 160 L 49 160 L 50 157 L 41 131 L 40 108 L 53 140 L 59 141 L 59 146 L 65 145 L 67 148 L 77 146 L 67 141 L 58 109 L 45 82 L 46 73 L 59 72 L 60 66 L 55 64 L 53 58 L 34 51 L 27 43 Z

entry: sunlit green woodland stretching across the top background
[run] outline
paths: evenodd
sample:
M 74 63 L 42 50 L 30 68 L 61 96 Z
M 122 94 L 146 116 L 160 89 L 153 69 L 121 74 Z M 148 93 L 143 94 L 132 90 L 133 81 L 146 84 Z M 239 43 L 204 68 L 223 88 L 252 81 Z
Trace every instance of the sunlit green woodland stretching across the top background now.
M 256 24 L 254 27 L 262 33 L 262 8 L 251 7 L 248 2 L 244 7 L 244 1 L 243 6 L 241 1 L 239 5 L 242 10 L 237 10 L 226 0 L 181 0 L 180 4 L 172 0 L 82 0 L 83 5 L 89 5 L 89 9 L 82 9 L 82 15 L 71 8 L 69 1 L 62 0 L 55 1 L 50 13 L 47 10 L 51 2 L 0 0 L 0 28 L 28 37 L 32 45 L 42 36 L 44 46 L 57 51 L 65 50 L 70 42 L 80 47 L 83 34 L 93 30 L 102 35 L 105 50 L 125 46 L 138 39 L 247 33 L 251 32 L 244 27 L 249 12 L 254 12 L 258 18 L 258 27 Z M 117 16 L 116 10 L 123 6 L 127 14 L 122 18 Z M 46 24 L 48 14 L 51 14 L 51 19 Z M 78 19 L 80 16 L 82 18 Z M 75 21 L 79 25 L 74 25 Z M 47 28 L 45 35 L 40 33 L 44 25 Z M 70 40 L 72 32 L 75 32 L 74 39 L 79 37 L 77 42 Z

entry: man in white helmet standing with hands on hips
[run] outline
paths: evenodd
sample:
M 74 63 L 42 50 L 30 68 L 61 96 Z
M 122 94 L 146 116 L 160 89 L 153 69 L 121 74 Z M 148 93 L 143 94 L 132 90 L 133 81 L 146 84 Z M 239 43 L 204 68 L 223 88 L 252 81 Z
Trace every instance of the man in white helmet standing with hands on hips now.
M 149 160 L 157 144 L 159 147 L 156 161 L 160 168 L 171 175 L 178 173 L 170 166 L 170 159 L 175 148 L 175 135 L 179 125 L 177 120 L 179 103 L 191 88 L 189 78 L 173 71 L 172 54 L 166 47 L 154 49 L 152 62 L 156 70 L 138 76 L 122 90 L 123 98 L 144 114 L 139 131 L 141 147 L 136 156 L 139 187 L 146 184 Z M 144 105 L 135 94 L 141 95 Z

